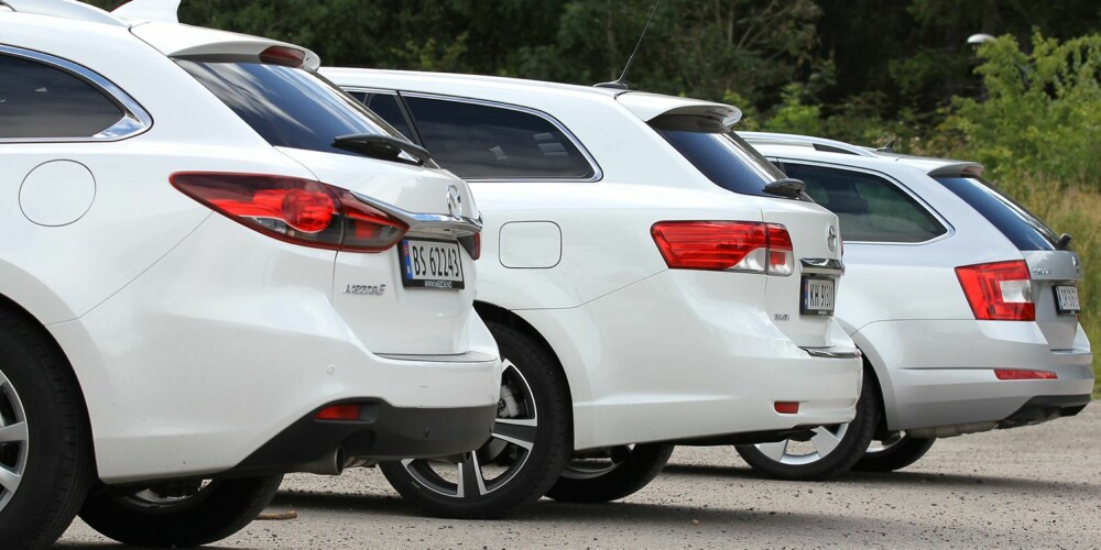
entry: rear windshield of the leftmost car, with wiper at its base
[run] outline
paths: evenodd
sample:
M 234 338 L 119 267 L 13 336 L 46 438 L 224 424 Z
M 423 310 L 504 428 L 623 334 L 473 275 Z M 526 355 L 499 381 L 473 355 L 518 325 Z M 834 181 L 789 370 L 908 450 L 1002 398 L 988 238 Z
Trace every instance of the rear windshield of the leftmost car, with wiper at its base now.
M 272 145 L 359 156 L 334 147 L 334 138 L 402 138 L 361 103 L 308 70 L 261 63 L 176 63 Z

